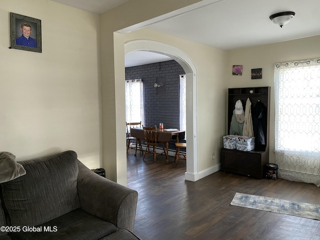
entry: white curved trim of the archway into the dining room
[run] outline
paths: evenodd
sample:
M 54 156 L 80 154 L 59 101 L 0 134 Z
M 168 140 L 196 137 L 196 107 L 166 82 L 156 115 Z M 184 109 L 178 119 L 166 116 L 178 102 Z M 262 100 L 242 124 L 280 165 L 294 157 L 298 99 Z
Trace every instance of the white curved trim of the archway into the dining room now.
M 185 71 L 186 76 L 186 131 L 187 131 L 187 148 L 186 148 L 186 172 L 185 179 L 196 181 L 200 179 L 198 173 L 197 159 L 197 114 L 196 114 L 196 82 L 197 71 L 192 59 L 180 49 L 169 44 L 154 40 L 132 40 L 124 44 L 124 53 L 131 51 L 144 50 L 164 54 L 176 60 Z M 192 96 L 192 97 L 190 97 Z M 192 137 L 190 137 L 192 136 Z

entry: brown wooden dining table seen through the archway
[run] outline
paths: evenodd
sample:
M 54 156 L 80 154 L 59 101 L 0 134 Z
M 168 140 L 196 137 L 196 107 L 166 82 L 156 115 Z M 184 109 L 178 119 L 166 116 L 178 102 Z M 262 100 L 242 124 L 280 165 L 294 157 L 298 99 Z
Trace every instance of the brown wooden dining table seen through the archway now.
M 136 139 L 144 140 L 144 132 L 143 128 L 134 127 L 130 128 L 131 136 L 135 137 Z M 166 155 L 165 160 L 168 161 L 168 150 L 169 150 L 169 142 L 172 139 L 172 136 L 176 136 L 176 142 L 179 142 L 179 133 L 185 132 L 185 130 L 179 130 L 176 128 L 160 128 L 156 129 L 157 132 L 157 142 L 165 142 L 166 148 Z

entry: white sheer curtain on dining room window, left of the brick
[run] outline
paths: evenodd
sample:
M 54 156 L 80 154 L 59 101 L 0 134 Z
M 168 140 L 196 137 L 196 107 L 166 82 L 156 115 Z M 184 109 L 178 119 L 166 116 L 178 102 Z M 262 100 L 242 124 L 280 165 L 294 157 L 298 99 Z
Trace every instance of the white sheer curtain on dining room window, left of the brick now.
M 144 124 L 144 94 L 142 79 L 125 80 L 125 120 Z

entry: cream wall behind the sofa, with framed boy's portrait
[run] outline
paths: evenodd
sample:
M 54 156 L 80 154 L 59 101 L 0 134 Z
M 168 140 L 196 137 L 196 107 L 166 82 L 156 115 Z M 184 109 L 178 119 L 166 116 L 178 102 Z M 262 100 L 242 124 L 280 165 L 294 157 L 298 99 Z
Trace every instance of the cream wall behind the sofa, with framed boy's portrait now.
M 9 49 L 9 12 L 41 19 L 42 53 Z M 102 166 L 99 18 L 50 0 L 1 0 L 0 151 L 72 149 Z

